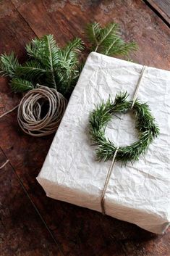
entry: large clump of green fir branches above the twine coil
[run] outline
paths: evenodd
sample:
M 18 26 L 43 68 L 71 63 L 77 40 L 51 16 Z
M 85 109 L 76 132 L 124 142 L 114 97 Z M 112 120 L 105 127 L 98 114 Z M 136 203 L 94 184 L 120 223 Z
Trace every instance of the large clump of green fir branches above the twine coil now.
M 83 49 L 80 38 L 60 49 L 54 36 L 48 35 L 33 39 L 25 49 L 30 59 L 23 65 L 19 64 L 14 52 L 1 55 L 1 74 L 12 78 L 12 90 L 23 92 L 41 83 L 64 95 L 72 91 L 79 75 L 78 54 Z

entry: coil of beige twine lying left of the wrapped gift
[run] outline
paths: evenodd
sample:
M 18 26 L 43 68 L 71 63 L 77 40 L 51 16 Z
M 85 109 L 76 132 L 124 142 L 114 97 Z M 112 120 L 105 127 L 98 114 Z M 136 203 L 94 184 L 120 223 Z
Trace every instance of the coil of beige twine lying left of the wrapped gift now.
M 22 98 L 17 120 L 22 131 L 31 136 L 54 133 L 67 107 L 67 99 L 54 88 L 38 86 Z

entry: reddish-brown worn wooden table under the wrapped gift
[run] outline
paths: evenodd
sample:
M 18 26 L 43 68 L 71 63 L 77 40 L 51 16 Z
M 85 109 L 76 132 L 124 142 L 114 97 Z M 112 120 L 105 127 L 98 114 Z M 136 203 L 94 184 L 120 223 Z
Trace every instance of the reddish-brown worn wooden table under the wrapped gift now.
M 24 46 L 35 36 L 54 34 L 63 46 L 80 36 L 87 22 L 119 22 L 122 36 L 139 49 L 132 59 L 170 70 L 169 1 L 4 0 L 0 1 L 0 51 Z M 14 107 L 13 94 L 0 78 L 0 115 Z M 35 139 L 22 133 L 16 112 L 0 120 L 1 256 L 169 256 L 170 229 L 156 236 L 98 212 L 46 197 L 35 177 L 53 136 Z

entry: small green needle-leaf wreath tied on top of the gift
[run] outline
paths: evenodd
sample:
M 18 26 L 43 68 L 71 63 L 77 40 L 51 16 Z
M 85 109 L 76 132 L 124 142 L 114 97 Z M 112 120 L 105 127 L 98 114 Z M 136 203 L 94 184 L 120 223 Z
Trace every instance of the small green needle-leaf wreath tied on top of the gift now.
M 120 146 L 116 153 L 116 160 L 121 160 L 124 164 L 127 161 L 138 160 L 140 154 L 146 153 L 150 143 L 159 134 L 158 125 L 151 115 L 148 104 L 140 103 L 137 99 L 132 107 L 132 101 L 127 101 L 128 96 L 127 92 L 116 94 L 114 102 L 112 102 L 109 96 L 106 103 L 102 102 L 96 106 L 93 112 L 90 112 L 90 136 L 95 146 L 98 146 L 96 157 L 99 161 L 111 160 L 114 157 L 116 146 L 109 138 L 106 138 L 105 130 L 112 115 L 118 112 L 126 113 L 132 110 L 135 113 L 135 127 L 139 131 L 139 140 L 128 146 Z

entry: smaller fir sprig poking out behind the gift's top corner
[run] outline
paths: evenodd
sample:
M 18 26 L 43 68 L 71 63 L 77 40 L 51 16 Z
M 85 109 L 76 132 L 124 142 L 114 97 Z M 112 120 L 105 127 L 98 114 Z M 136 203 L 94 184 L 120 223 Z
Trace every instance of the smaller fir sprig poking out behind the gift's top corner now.
M 119 36 L 119 26 L 114 22 L 104 28 L 101 28 L 101 25 L 97 22 L 89 24 L 87 26 L 87 35 L 92 51 L 98 51 L 101 54 L 127 56 L 130 51 L 137 49 L 134 42 L 124 42 Z

